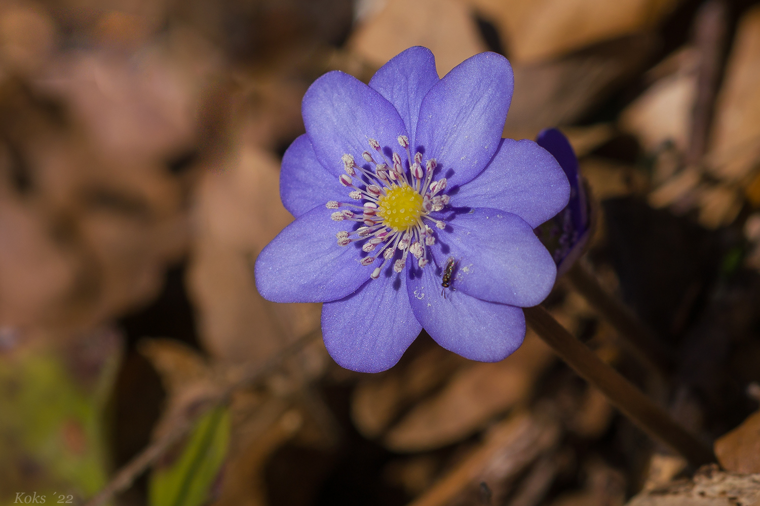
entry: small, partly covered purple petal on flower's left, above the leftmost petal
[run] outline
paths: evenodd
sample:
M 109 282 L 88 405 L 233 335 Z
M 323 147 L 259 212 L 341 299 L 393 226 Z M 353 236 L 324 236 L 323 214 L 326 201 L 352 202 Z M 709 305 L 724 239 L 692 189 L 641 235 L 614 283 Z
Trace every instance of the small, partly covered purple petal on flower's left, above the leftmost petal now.
M 290 214 L 298 218 L 328 200 L 345 202 L 349 190 L 318 162 L 306 134 L 290 144 L 280 169 L 280 199 Z

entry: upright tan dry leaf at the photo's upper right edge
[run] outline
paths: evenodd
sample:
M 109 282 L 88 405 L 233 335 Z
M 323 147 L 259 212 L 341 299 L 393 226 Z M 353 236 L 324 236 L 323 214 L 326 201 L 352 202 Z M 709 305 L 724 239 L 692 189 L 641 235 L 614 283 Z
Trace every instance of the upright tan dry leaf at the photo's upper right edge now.
M 708 159 L 720 178 L 738 181 L 760 160 L 760 8 L 739 21 L 717 97 Z

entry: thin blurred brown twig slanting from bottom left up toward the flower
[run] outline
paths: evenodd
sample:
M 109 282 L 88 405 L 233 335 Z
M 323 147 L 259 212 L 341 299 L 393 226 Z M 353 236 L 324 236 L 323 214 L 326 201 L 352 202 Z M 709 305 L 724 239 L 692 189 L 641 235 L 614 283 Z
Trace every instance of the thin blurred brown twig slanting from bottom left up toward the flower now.
M 223 404 L 230 399 L 230 395 L 239 388 L 251 385 L 254 382 L 259 381 L 264 376 L 268 375 L 274 369 L 279 368 L 283 361 L 294 354 L 296 351 L 301 350 L 306 344 L 311 342 L 318 332 L 309 332 L 302 338 L 294 341 L 293 344 L 281 350 L 280 353 L 274 355 L 260 366 L 245 367 L 241 366 L 232 374 L 227 375 L 227 378 L 223 380 L 224 385 L 219 389 L 218 393 L 212 397 L 203 399 L 203 403 L 190 403 L 185 409 L 181 411 L 180 416 L 176 416 L 173 421 L 173 425 L 169 430 L 163 433 L 156 441 L 147 445 L 139 454 L 133 457 L 124 467 L 122 467 L 114 476 L 111 481 L 100 491 L 97 495 L 90 498 L 84 506 L 103 506 L 106 502 L 110 501 L 114 495 L 124 492 L 128 489 L 135 479 L 138 478 L 148 467 L 155 464 L 155 462 L 166 453 L 176 442 L 179 442 L 185 435 L 190 432 L 195 425 L 195 420 L 211 407 Z

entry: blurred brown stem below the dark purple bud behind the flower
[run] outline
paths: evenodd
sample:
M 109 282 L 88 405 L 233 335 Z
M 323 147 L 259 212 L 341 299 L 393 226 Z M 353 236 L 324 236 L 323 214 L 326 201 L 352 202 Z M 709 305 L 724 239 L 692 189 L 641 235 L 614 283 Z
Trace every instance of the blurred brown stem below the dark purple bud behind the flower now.
M 582 259 L 575 262 L 567 276 L 573 288 L 613 325 L 639 360 L 658 369 L 661 375 L 670 371 L 672 364 L 667 349 L 654 338 L 641 320 L 602 287 L 594 273 L 584 266 Z

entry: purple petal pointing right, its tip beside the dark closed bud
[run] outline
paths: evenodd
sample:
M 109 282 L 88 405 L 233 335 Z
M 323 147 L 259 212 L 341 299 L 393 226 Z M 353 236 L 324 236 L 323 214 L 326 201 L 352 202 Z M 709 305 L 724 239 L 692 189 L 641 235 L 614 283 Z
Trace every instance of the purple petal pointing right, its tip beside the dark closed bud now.
M 532 140 L 502 139 L 486 168 L 451 197 L 452 206 L 492 207 L 536 228 L 568 203 L 568 178 L 553 156 Z

